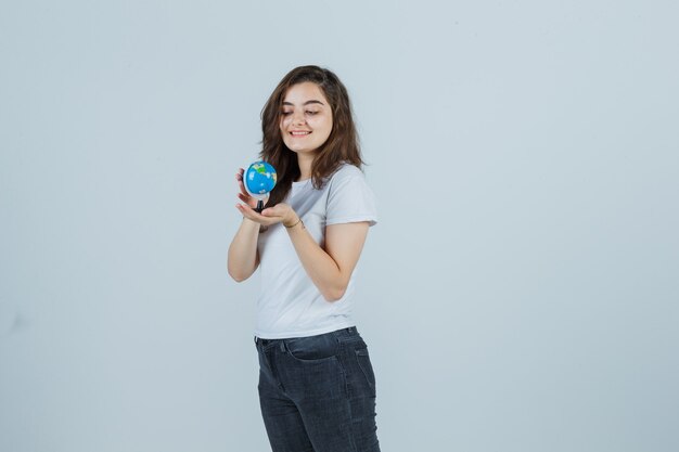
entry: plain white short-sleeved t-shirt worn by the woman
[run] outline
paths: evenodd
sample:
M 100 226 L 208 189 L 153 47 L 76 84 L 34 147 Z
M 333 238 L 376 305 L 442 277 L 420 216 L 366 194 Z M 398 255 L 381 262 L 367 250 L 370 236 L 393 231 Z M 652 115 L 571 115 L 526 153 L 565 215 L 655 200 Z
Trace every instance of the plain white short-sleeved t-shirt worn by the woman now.
M 324 246 L 325 227 L 377 221 L 375 201 L 360 169 L 342 166 L 316 190 L 311 179 L 293 182 L 285 198 L 309 234 Z M 355 326 L 354 276 L 344 296 L 326 301 L 308 276 L 283 224 L 270 227 L 257 242 L 261 290 L 257 300 L 255 336 L 265 339 L 305 337 Z

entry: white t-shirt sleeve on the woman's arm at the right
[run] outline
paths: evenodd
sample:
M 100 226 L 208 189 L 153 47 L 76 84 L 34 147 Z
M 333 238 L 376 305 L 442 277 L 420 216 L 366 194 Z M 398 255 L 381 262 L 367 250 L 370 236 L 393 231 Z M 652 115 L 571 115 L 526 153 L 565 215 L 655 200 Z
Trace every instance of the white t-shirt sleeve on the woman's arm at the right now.
M 363 172 L 353 165 L 337 170 L 328 184 L 325 224 L 377 222 L 375 196 Z

